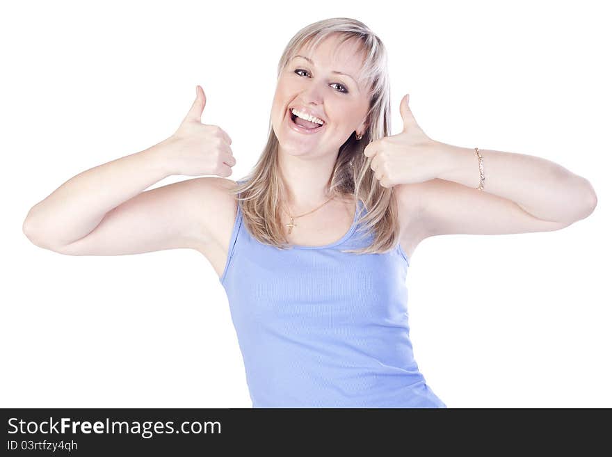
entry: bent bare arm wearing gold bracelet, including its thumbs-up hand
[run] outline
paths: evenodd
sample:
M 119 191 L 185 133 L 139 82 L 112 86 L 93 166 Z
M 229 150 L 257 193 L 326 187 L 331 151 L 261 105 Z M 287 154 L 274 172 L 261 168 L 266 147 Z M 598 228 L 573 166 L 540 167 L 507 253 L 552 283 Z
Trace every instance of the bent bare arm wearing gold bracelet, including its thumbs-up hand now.
M 431 234 L 557 230 L 595 209 L 587 179 L 526 154 L 479 149 L 484 184 L 474 190 L 481 179 L 476 150 L 429 138 L 408 98 L 400 104 L 403 131 L 371 141 L 363 153 L 380 185 L 398 188 L 403 210 L 420 208 Z

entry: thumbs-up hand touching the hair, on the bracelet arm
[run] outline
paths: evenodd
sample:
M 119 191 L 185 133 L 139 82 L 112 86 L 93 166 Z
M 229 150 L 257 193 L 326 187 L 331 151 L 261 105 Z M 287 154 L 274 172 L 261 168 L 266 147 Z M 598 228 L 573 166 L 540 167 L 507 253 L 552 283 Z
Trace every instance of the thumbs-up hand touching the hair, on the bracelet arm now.
M 428 181 L 450 168 L 443 143 L 429 138 L 414 120 L 409 98 L 406 94 L 399 109 L 404 123 L 401 134 L 372 141 L 364 149 L 364 155 L 371 157 L 370 168 L 385 188 Z

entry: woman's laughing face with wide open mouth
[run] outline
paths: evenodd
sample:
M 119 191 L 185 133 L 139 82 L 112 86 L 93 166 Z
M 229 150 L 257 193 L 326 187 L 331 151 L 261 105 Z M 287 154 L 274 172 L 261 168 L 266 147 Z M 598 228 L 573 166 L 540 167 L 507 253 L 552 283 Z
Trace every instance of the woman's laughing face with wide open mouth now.
M 354 131 L 364 133 L 369 95 L 356 81 L 362 62 L 360 45 L 355 40 L 339 45 L 336 35 L 312 51 L 300 49 L 291 58 L 277 81 L 271 112 L 281 152 L 335 155 Z M 323 127 L 314 133 L 298 131 L 291 120 L 290 108 L 294 106 L 323 120 Z

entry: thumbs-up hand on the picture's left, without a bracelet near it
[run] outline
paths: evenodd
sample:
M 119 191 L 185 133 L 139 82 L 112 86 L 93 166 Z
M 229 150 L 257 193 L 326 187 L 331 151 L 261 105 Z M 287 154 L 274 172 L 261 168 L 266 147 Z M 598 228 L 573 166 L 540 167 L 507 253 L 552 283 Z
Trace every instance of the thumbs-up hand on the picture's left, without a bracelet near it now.
M 232 138 L 216 125 L 202 124 L 206 95 L 195 86 L 195 100 L 177 131 L 172 143 L 172 169 L 176 175 L 218 175 L 228 177 L 236 159 L 232 154 Z

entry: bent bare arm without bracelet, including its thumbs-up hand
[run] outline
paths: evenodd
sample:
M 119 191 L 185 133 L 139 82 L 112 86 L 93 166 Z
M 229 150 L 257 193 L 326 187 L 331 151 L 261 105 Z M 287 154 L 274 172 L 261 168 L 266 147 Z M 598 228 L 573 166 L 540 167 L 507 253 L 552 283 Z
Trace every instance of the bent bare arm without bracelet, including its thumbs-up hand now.
M 222 191 L 221 178 L 188 179 L 143 192 L 170 175 L 232 173 L 232 141 L 219 127 L 202 125 L 206 98 L 200 86 L 196 95 L 170 138 L 90 168 L 34 205 L 23 224 L 26 236 L 37 246 L 69 255 L 198 248 L 206 242 L 202 212 Z

